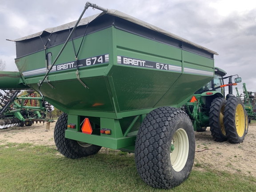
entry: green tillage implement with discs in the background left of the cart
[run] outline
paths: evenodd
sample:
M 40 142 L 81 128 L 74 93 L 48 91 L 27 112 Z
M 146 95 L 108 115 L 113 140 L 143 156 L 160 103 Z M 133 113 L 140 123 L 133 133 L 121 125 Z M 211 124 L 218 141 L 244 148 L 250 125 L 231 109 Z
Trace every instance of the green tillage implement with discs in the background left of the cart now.
M 31 126 L 34 122 L 52 122 L 46 119 L 51 106 L 34 90 L 18 96 L 20 90 L 1 90 L 0 92 L 0 128 L 13 126 Z

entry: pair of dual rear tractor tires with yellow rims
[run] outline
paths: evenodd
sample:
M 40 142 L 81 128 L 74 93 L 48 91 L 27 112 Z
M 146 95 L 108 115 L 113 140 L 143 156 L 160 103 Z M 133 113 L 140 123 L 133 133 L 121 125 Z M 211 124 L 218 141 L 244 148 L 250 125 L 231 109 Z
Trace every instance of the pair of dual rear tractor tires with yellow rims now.
M 215 141 L 239 144 L 248 131 L 248 116 L 239 97 L 216 98 L 209 112 L 209 125 Z

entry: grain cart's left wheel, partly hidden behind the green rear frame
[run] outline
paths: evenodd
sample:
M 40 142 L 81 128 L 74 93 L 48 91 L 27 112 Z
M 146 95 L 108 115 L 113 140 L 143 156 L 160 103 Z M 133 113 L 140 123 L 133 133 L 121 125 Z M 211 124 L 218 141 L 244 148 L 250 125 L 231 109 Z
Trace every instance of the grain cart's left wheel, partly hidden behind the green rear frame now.
M 54 128 L 54 141 L 58 151 L 71 159 L 94 155 L 100 151 L 100 146 L 65 138 L 68 127 L 68 114 L 62 113 Z

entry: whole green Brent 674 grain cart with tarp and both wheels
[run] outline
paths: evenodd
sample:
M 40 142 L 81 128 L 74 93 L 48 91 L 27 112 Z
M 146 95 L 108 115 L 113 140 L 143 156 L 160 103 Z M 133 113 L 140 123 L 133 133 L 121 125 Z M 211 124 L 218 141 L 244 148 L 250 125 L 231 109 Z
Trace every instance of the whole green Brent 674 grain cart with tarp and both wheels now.
M 88 7 L 103 12 L 80 20 Z M 178 107 L 213 78 L 217 53 L 116 10 L 88 2 L 84 11 L 76 22 L 15 40 L 19 85 L 64 112 L 54 131 L 64 156 L 135 152 L 147 184 L 181 184 L 195 136 Z

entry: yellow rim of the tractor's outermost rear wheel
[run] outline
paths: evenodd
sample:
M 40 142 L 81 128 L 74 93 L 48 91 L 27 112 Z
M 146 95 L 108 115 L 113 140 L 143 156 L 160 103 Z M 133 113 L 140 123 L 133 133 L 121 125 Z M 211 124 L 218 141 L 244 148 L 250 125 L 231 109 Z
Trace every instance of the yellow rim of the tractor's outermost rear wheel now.
M 236 132 L 238 136 L 244 135 L 245 126 L 245 117 L 244 117 L 244 108 L 241 104 L 238 104 L 236 107 Z

